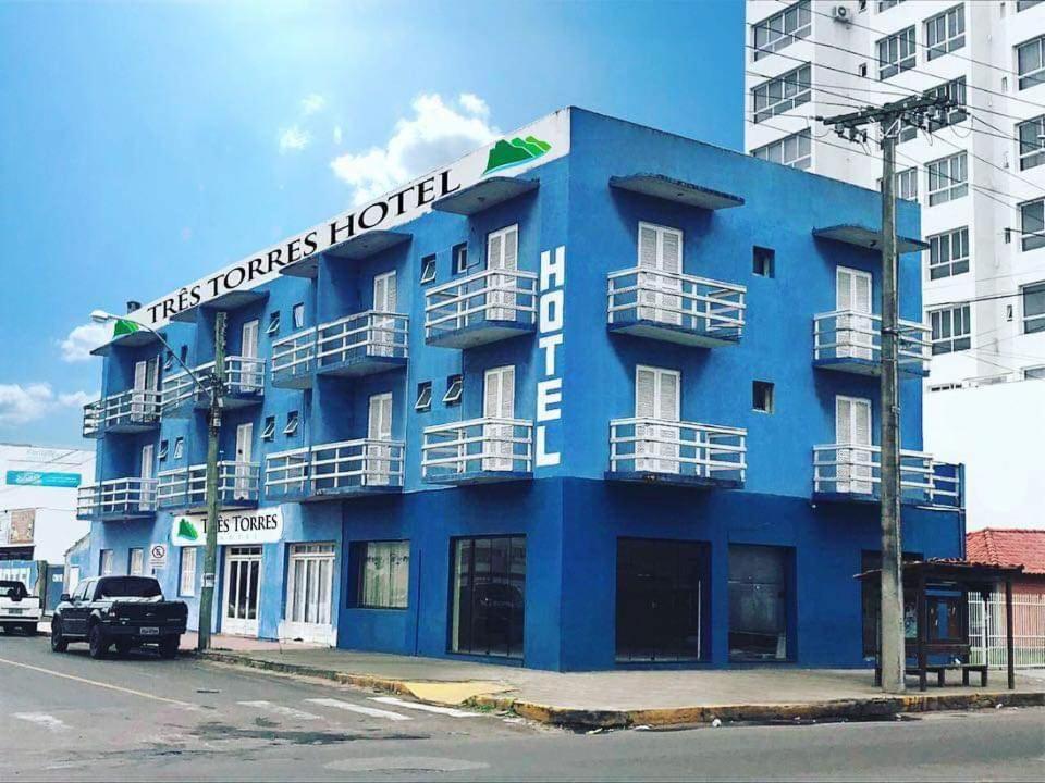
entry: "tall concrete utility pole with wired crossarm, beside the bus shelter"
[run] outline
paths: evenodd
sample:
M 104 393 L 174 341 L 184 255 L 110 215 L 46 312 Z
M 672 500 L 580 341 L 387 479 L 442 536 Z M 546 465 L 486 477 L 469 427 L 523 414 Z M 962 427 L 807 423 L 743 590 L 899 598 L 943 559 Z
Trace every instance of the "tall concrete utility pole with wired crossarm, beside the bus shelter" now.
M 905 125 L 932 132 L 932 115 L 955 105 L 948 97 L 914 96 L 834 117 L 816 117 L 850 141 L 866 141 L 863 127 L 877 124 L 882 146 L 882 592 L 878 663 L 882 689 L 903 693 L 907 668 L 903 633 L 903 564 L 900 536 L 900 405 L 897 394 L 899 302 L 896 252 L 896 137 Z

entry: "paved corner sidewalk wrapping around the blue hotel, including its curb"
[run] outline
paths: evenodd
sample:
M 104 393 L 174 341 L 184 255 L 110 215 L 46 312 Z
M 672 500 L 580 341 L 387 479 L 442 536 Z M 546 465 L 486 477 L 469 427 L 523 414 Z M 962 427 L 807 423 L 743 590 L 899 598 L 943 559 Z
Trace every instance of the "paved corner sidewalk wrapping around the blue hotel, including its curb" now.
M 511 709 L 571 728 L 678 725 L 796 719 L 868 719 L 899 712 L 1045 706 L 1045 680 L 991 672 L 986 688 L 930 686 L 913 679 L 900 697 L 874 687 L 870 670 L 745 669 L 558 673 L 469 661 L 356 652 L 254 639 L 216 638 L 213 660 L 333 680 L 434 704 Z M 960 683 L 958 672 L 949 681 Z

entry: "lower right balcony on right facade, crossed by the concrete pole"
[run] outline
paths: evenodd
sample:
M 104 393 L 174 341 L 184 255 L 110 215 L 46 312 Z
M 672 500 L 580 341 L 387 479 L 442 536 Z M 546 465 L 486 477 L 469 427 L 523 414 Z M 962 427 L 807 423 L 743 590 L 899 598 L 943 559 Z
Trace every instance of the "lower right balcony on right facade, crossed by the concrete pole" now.
M 813 499 L 880 502 L 882 449 L 831 444 L 813 447 Z M 960 508 L 961 468 L 921 451 L 900 451 L 900 501 Z

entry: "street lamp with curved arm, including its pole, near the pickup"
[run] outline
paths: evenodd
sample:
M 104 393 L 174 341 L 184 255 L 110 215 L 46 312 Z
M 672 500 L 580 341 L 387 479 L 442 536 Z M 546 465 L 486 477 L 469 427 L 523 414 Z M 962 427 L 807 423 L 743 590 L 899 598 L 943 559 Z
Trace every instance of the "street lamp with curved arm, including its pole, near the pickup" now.
M 185 371 L 196 388 L 207 395 L 207 544 L 204 548 L 204 585 L 199 594 L 199 632 L 196 649 L 200 652 L 210 647 L 210 627 L 214 608 L 214 573 L 218 564 L 218 433 L 221 430 L 221 396 L 224 386 L 223 366 L 225 363 L 225 313 L 219 311 L 214 323 L 214 374 L 210 382 L 204 381 L 168 345 L 163 336 L 148 324 L 122 315 L 113 315 L 104 310 L 94 310 L 90 320 L 95 323 L 114 322 L 116 328 L 123 325 L 127 332 L 145 330 L 160 344 Z

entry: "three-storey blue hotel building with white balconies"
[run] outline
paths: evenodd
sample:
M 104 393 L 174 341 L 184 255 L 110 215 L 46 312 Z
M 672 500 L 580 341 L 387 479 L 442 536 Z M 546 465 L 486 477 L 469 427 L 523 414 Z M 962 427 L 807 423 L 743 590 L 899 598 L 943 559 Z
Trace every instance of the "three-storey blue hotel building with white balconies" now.
M 898 206 L 903 549 L 962 554 L 922 452 Z M 860 666 L 878 557 L 880 198 L 566 109 L 146 307 L 85 411 L 84 573 L 195 618 L 226 321 L 216 629 L 553 670 Z M 126 330 L 118 330 L 126 332 Z

